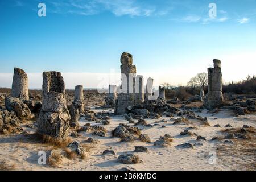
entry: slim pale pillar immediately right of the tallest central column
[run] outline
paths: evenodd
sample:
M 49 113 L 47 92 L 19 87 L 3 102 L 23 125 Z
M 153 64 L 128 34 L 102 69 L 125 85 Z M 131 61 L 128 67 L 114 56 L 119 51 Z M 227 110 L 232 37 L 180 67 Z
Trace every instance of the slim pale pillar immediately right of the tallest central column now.
M 144 78 L 142 75 L 137 75 L 135 79 L 135 104 L 144 102 Z

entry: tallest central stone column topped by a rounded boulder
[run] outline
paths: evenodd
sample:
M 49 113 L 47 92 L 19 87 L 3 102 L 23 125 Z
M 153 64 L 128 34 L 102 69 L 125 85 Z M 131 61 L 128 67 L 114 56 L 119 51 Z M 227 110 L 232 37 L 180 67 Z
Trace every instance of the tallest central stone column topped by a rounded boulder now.
M 136 67 L 133 65 L 133 56 L 123 52 L 120 61 L 122 63 L 122 91 L 115 102 L 115 114 L 126 113 L 127 107 L 134 105 Z

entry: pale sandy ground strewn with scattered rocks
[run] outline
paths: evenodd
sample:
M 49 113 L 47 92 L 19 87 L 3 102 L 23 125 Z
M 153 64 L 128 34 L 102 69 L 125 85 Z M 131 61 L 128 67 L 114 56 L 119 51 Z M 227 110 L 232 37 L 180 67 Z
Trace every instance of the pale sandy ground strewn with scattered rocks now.
M 96 112 L 101 110 L 94 110 Z M 112 110 L 113 111 L 113 110 Z M 104 126 L 108 129 L 106 137 L 92 136 L 90 133 L 81 132 L 81 137 L 73 138 L 80 140 L 83 143 L 88 137 L 96 138 L 100 140 L 100 144 L 94 146 L 90 151 L 90 156 L 84 160 L 75 159 L 69 160 L 65 158 L 63 163 L 59 167 L 53 168 L 46 165 L 38 164 L 38 152 L 50 151 L 52 147 L 45 144 L 31 143 L 23 135 L 9 135 L 0 136 L 0 160 L 6 160 L 7 164 L 13 165 L 14 169 L 18 170 L 119 170 L 123 167 L 133 167 L 137 170 L 240 170 L 246 169 L 246 164 L 255 163 L 255 155 L 243 155 L 240 158 L 237 156 L 218 156 L 217 164 L 209 164 L 209 152 L 216 152 L 218 146 L 224 144 L 223 141 L 210 141 L 213 137 L 223 135 L 220 131 L 225 129 L 226 124 L 230 124 L 233 127 L 242 127 L 243 125 L 249 125 L 256 127 L 256 115 L 245 115 L 240 117 L 233 117 L 232 113 L 228 110 L 221 110 L 217 114 L 207 113 L 204 110 L 199 113 L 202 117 L 207 117 L 210 127 L 200 125 L 198 121 L 191 120 L 189 125 L 172 125 L 173 121 L 170 118 L 163 117 L 168 122 L 159 124 L 165 125 L 166 128 L 161 126 L 154 126 L 153 128 L 138 126 L 143 129 L 142 134 L 148 134 L 151 138 L 151 143 L 143 143 L 140 141 L 135 142 L 119 142 L 120 139 L 112 137 L 111 131 L 119 125 L 119 123 L 126 123 L 123 117 L 114 116 L 111 117 L 111 124 Z M 154 123 L 160 119 L 147 119 L 148 123 Z M 216 119 L 217 118 L 217 119 Z M 135 121 L 136 122 L 136 121 Z M 83 126 L 88 121 L 80 120 L 80 125 Z M 91 125 L 102 125 L 101 123 L 90 122 Z M 214 125 L 220 124 L 221 128 L 214 127 Z M 130 124 L 129 124 L 130 125 Z M 196 136 L 181 136 L 180 132 L 184 131 L 190 126 L 196 126 L 197 129 L 191 130 L 192 133 L 204 136 L 207 141 L 196 140 Z M 33 131 L 23 125 L 25 131 Z M 158 140 L 160 136 L 164 134 L 170 134 L 174 137 L 174 141 L 171 146 L 158 147 L 154 146 L 155 140 Z M 193 149 L 186 149 L 177 147 L 178 144 L 189 142 L 191 144 L 201 143 L 203 145 L 195 146 Z M 229 144 L 225 144 L 229 145 Z M 148 148 L 148 153 L 134 152 L 134 146 L 144 146 Z M 114 150 L 117 155 L 102 155 L 104 150 Z M 122 164 L 117 162 L 117 158 L 121 154 L 136 154 L 142 163 L 139 164 Z

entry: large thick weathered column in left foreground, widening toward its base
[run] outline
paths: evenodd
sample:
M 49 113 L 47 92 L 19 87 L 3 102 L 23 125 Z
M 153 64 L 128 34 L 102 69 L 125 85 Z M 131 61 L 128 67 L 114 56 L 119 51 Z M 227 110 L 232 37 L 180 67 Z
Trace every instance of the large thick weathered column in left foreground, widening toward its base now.
M 61 73 L 43 72 L 43 104 L 38 118 L 38 133 L 65 140 L 70 119 Z

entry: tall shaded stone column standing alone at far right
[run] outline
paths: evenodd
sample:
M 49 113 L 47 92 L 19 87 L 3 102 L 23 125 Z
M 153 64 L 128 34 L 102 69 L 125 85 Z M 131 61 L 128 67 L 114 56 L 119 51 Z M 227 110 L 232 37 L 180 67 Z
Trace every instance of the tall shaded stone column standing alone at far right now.
M 212 109 L 224 103 L 222 94 L 221 61 L 214 59 L 214 68 L 208 68 L 208 93 L 206 105 Z

